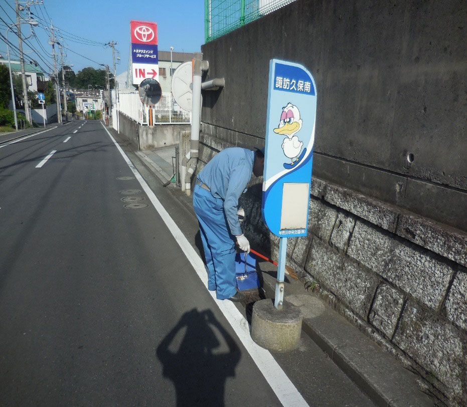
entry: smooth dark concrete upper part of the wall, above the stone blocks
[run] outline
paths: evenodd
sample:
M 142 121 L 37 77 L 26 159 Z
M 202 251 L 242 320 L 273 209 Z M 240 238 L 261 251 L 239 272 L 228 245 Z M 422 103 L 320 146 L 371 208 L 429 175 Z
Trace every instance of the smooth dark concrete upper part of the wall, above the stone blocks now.
M 317 84 L 314 173 L 467 231 L 466 14 L 461 0 L 297 0 L 202 47 L 207 79 L 226 83 L 204 93 L 203 121 L 254 144 L 269 60 L 302 63 Z

